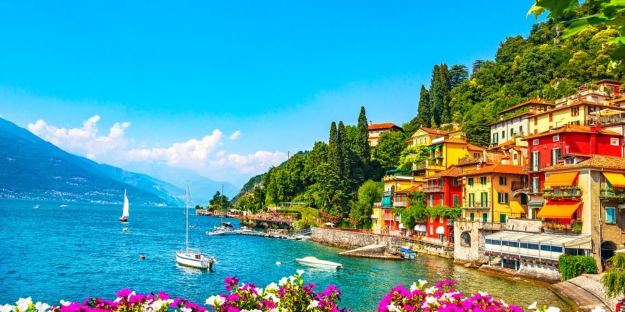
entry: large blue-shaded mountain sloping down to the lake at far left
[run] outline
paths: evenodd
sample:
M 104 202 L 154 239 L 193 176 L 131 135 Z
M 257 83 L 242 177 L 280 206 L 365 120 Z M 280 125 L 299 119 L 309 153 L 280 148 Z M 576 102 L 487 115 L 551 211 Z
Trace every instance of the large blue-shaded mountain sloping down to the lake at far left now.
M 0 198 L 181 205 L 181 187 L 67 153 L 0 118 Z

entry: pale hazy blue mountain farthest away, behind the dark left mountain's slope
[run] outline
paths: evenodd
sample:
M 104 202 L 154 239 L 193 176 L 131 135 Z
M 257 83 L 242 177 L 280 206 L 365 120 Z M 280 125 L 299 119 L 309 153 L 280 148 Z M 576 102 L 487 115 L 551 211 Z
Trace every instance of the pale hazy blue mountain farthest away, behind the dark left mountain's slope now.
M 203 177 L 193 171 L 183 168 L 172 168 L 169 166 L 156 166 L 154 164 L 132 164 L 131 169 L 133 171 L 146 173 L 151 177 L 167 181 L 176 186 L 180 185 L 184 187 L 186 182 L 189 182 L 190 198 L 189 205 L 208 205 L 208 200 L 213 198 L 216 191 L 222 191 L 222 184 L 224 184 L 224 194 L 231 198 L 235 196 L 238 191 L 238 187 L 235 187 L 230 182 L 219 182 L 211 180 L 208 177 Z M 184 198 L 184 191 L 181 193 L 181 199 Z

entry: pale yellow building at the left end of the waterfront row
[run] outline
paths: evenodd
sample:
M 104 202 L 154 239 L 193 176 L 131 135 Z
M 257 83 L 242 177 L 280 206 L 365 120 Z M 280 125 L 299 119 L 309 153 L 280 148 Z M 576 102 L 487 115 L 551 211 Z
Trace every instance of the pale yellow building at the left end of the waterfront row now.
M 392 213 L 392 209 L 406 207 L 406 198 L 396 200 L 395 193 L 420 187 L 421 182 L 418 182 L 409 171 L 401 169 L 387 171 L 382 181 L 384 182 L 382 201 L 374 203 L 371 216 L 372 229 L 374 233 L 389 234 L 389 232 L 399 230 L 399 217 Z

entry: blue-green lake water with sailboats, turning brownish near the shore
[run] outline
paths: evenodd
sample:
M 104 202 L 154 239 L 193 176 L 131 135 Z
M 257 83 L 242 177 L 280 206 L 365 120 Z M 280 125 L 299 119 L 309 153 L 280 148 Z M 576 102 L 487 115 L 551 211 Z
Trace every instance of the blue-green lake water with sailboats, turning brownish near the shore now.
M 35 205 L 40 209 L 34 209 Z M 240 281 L 264 287 L 304 269 L 306 281 L 322 290 L 328 284 L 344 293 L 341 306 L 353 311 L 374 311 L 376 304 L 397 284 L 417 279 L 458 281 L 465 293 L 486 291 L 508 304 L 526 308 L 539 304 L 569 309 L 549 289 L 524 281 L 485 275 L 455 266 L 448 259 L 419 256 L 413 261 L 380 261 L 342 257 L 342 251 L 310 241 L 285 241 L 253 236 L 206 236 L 219 218 L 197 217 L 190 210 L 190 245 L 214 254 L 213 272 L 176 265 L 174 253 L 185 243 L 183 208 L 136 207 L 131 203 L 129 222 L 120 223 L 122 207 L 59 202 L 0 200 L 0 304 L 19 297 L 58 303 L 88 296 L 115 298 L 122 288 L 142 293 L 165 291 L 203 304 L 210 295 L 224 292 L 222 281 Z M 233 221 L 238 225 L 238 220 Z M 130 232 L 123 232 L 128 227 Z M 139 256 L 144 254 L 146 259 Z M 315 256 L 340 262 L 337 272 L 304 268 L 295 258 Z M 276 266 L 281 261 L 281 266 Z

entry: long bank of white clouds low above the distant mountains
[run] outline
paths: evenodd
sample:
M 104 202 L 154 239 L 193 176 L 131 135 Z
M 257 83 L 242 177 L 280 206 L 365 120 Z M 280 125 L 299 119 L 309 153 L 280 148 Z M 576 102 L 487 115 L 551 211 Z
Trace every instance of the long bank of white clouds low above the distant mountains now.
M 217 148 L 224 145 L 224 135 L 219 129 L 201 139 L 175 142 L 168 147 L 135 146 L 135 140 L 126 137 L 131 123 L 114 123 L 107 135 L 99 135 L 100 116 L 94 115 L 83 122 L 81 128 L 57 128 L 39 119 L 28 124 L 28 130 L 42 139 L 67 150 L 69 153 L 85 156 L 97 162 L 116 166 L 132 164 L 153 164 L 189 168 L 201 175 L 217 179 L 240 182 L 251 174 L 262 173 L 270 166 L 276 166 L 286 159 L 285 153 L 276 150 L 258 150 L 248 155 L 227 153 Z M 240 130 L 228 139 L 240 137 Z

